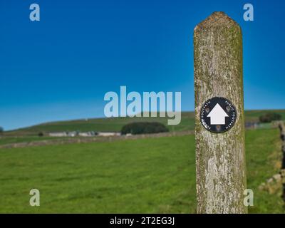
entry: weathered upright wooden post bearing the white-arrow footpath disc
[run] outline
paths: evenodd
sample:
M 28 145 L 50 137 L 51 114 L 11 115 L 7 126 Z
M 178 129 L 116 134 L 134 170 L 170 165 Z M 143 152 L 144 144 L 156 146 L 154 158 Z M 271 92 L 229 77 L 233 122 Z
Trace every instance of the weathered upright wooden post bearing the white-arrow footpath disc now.
M 197 213 L 247 213 L 241 28 L 214 12 L 194 54 Z

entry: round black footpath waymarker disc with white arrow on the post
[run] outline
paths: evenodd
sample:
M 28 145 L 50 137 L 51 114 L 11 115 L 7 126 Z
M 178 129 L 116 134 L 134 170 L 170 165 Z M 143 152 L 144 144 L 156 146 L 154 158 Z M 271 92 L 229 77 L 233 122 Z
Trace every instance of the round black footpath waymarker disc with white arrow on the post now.
M 236 122 L 237 110 L 226 98 L 214 97 L 202 106 L 200 120 L 211 133 L 224 133 Z

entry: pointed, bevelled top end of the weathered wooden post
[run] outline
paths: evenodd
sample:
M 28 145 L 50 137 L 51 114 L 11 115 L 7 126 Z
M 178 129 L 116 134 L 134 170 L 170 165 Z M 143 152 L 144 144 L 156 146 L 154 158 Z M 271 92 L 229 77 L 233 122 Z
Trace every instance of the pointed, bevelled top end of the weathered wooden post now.
M 207 17 L 207 19 L 204 19 L 204 21 L 197 24 L 196 28 L 212 28 L 212 27 L 232 27 L 237 26 L 239 27 L 239 24 L 237 24 L 236 21 L 231 19 L 227 14 L 224 14 L 222 11 L 216 11 L 212 13 L 210 16 Z

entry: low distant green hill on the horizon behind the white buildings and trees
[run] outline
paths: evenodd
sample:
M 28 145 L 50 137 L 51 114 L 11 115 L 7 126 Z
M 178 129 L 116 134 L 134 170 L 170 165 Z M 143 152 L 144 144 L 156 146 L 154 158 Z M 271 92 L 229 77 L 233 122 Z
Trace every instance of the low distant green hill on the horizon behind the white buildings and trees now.
M 246 122 L 255 121 L 264 113 L 279 113 L 285 120 L 285 110 L 247 110 L 245 111 Z M 119 132 L 123 125 L 136 121 L 157 121 L 167 125 L 167 117 L 165 118 L 93 118 L 81 120 L 58 121 L 51 123 L 43 123 L 28 128 L 6 131 L 4 135 L 38 135 L 38 133 L 50 133 L 61 131 L 103 131 L 103 132 Z M 167 125 L 170 131 L 193 130 L 195 126 L 194 113 L 182 112 L 181 123 L 179 125 Z

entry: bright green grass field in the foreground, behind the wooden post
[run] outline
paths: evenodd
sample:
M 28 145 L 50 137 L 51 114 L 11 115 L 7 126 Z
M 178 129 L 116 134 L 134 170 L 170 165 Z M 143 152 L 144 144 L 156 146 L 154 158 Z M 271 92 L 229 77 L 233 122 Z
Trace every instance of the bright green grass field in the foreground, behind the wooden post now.
M 279 195 L 258 189 L 279 172 L 278 130 L 247 130 L 246 149 L 249 212 L 283 213 Z M 194 135 L 0 149 L 0 172 L 2 213 L 195 213 Z

